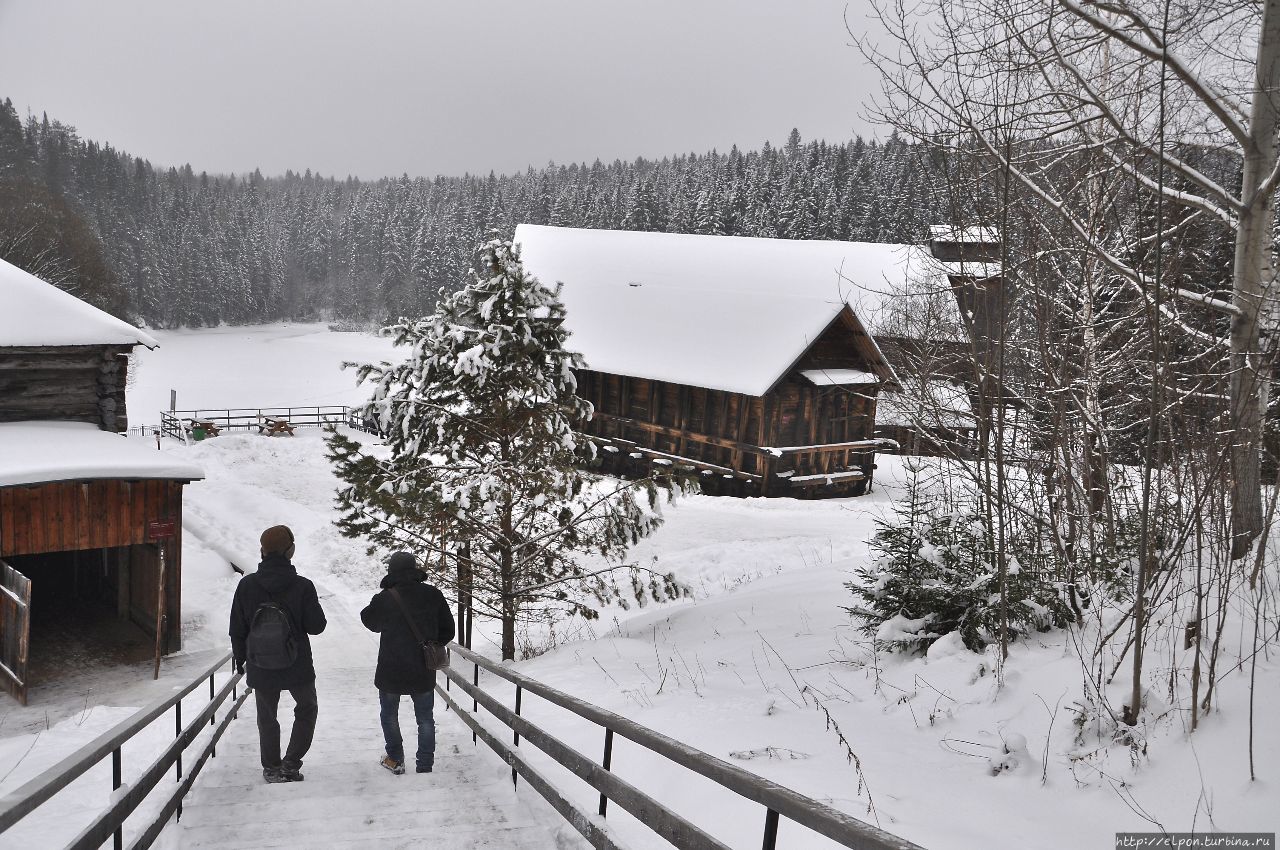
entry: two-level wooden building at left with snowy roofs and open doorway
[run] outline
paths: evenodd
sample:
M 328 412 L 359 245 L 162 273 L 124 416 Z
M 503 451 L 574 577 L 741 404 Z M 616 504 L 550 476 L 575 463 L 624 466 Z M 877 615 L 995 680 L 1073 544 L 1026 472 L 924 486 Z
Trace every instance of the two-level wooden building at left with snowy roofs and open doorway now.
M 0 682 L 182 643 L 182 488 L 200 469 L 118 431 L 146 333 L 0 260 Z M 163 554 L 161 554 L 163 553 Z

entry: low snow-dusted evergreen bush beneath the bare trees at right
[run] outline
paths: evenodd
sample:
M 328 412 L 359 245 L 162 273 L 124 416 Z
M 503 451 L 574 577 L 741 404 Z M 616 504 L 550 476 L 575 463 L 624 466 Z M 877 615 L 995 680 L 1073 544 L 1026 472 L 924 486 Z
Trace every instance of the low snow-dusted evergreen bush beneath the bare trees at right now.
M 879 648 L 924 653 L 955 632 L 980 650 L 1002 626 L 1015 638 L 1071 620 L 1060 589 L 1021 567 L 1019 547 L 1006 547 L 1002 609 L 996 550 L 975 511 L 902 507 L 879 524 L 870 545 L 872 563 L 846 585 L 856 599 L 847 611 Z

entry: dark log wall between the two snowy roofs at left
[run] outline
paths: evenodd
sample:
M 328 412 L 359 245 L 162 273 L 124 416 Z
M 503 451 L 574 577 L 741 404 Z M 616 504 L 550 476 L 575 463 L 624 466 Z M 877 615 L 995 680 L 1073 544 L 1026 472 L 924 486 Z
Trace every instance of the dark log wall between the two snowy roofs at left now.
M 124 406 L 131 346 L 0 347 L 0 422 L 70 420 L 129 428 Z

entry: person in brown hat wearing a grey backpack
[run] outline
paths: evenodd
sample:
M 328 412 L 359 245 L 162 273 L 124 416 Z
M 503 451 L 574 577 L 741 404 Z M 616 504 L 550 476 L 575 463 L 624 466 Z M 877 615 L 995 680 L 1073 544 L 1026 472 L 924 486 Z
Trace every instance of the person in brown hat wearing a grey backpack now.
M 298 575 L 292 558 L 293 531 L 275 525 L 262 533 L 262 562 L 257 572 L 241 579 L 232 599 L 232 657 L 236 670 L 247 672 L 248 686 L 257 703 L 257 740 L 262 778 L 268 782 L 301 782 L 302 757 L 311 749 L 316 731 L 316 668 L 311 661 L 311 639 L 328 625 L 316 586 Z M 275 602 L 289 614 L 298 657 L 284 670 L 265 670 L 248 657 L 248 631 L 253 614 L 264 602 Z M 280 691 L 293 698 L 293 728 L 289 746 L 280 758 L 280 723 L 276 712 Z

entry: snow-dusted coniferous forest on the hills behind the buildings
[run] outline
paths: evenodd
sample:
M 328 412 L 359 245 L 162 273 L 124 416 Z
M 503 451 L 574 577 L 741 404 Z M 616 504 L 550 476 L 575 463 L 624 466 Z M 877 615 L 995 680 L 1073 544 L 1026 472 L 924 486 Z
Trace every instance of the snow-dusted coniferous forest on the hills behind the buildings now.
M 152 326 L 383 323 L 462 285 L 516 224 L 910 242 L 941 220 L 923 148 L 803 141 L 521 174 L 360 180 L 161 168 L 0 104 L 0 257 Z

